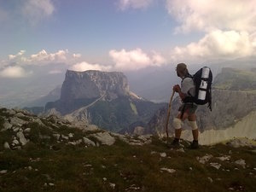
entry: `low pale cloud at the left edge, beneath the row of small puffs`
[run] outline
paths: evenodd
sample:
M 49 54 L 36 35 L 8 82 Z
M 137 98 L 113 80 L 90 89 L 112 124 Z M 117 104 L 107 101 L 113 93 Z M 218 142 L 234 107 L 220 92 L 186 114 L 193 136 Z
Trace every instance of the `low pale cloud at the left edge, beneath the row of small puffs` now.
M 26 73 L 26 71 L 19 66 L 6 67 L 2 71 L 0 71 L 0 77 L 9 79 L 25 78 L 31 73 L 32 72 Z

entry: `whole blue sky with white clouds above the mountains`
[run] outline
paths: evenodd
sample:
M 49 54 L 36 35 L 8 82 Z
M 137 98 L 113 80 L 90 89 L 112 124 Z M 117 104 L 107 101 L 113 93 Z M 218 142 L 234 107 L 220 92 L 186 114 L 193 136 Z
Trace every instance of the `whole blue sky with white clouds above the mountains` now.
M 256 56 L 256 0 L 0 0 L 0 26 L 0 79 Z

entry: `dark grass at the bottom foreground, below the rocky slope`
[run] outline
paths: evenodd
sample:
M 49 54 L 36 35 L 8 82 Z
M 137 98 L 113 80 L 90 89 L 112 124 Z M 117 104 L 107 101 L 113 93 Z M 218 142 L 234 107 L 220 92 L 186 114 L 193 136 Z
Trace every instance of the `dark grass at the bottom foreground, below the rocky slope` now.
M 185 148 L 185 153 L 182 153 L 166 148 L 166 143 L 156 138 L 152 144 L 144 146 L 131 146 L 117 140 L 113 146 L 99 148 L 64 144 L 58 147 L 58 150 L 53 150 L 28 143 L 21 150 L 1 153 L 1 169 L 8 172 L 0 175 L 0 191 L 213 192 L 238 189 L 239 186 L 244 191 L 256 189 L 256 171 L 253 170 L 256 157 L 251 148 L 218 144 L 202 146 L 198 150 Z M 166 153 L 167 157 L 160 157 L 160 153 Z M 205 154 L 213 157 L 203 165 L 196 157 Z M 224 154 L 230 155 L 230 161 L 217 159 Z M 246 161 L 246 168 L 234 163 L 239 159 Z M 217 170 L 210 166 L 210 162 L 222 166 Z M 176 172 L 160 172 L 162 167 Z M 49 183 L 54 183 L 54 186 Z M 115 184 L 114 189 L 110 183 Z

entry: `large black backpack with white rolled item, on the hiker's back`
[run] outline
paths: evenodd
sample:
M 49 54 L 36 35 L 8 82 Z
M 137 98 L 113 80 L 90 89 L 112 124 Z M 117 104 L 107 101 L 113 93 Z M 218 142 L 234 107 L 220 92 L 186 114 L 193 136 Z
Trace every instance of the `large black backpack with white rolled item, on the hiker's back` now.
M 202 67 L 193 76 L 189 75 L 187 78 L 192 78 L 195 84 L 195 96 L 187 96 L 183 102 L 195 102 L 198 105 L 205 105 L 208 103 L 208 108 L 212 111 L 212 71 L 209 67 Z

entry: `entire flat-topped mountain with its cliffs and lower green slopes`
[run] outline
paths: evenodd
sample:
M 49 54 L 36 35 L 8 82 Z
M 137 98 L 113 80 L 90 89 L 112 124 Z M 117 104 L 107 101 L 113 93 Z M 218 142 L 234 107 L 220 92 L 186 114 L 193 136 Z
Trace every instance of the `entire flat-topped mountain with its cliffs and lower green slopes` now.
M 123 73 L 67 70 L 60 99 L 48 102 L 45 113 L 120 131 L 136 122 L 148 122 L 164 105 L 132 93 Z

